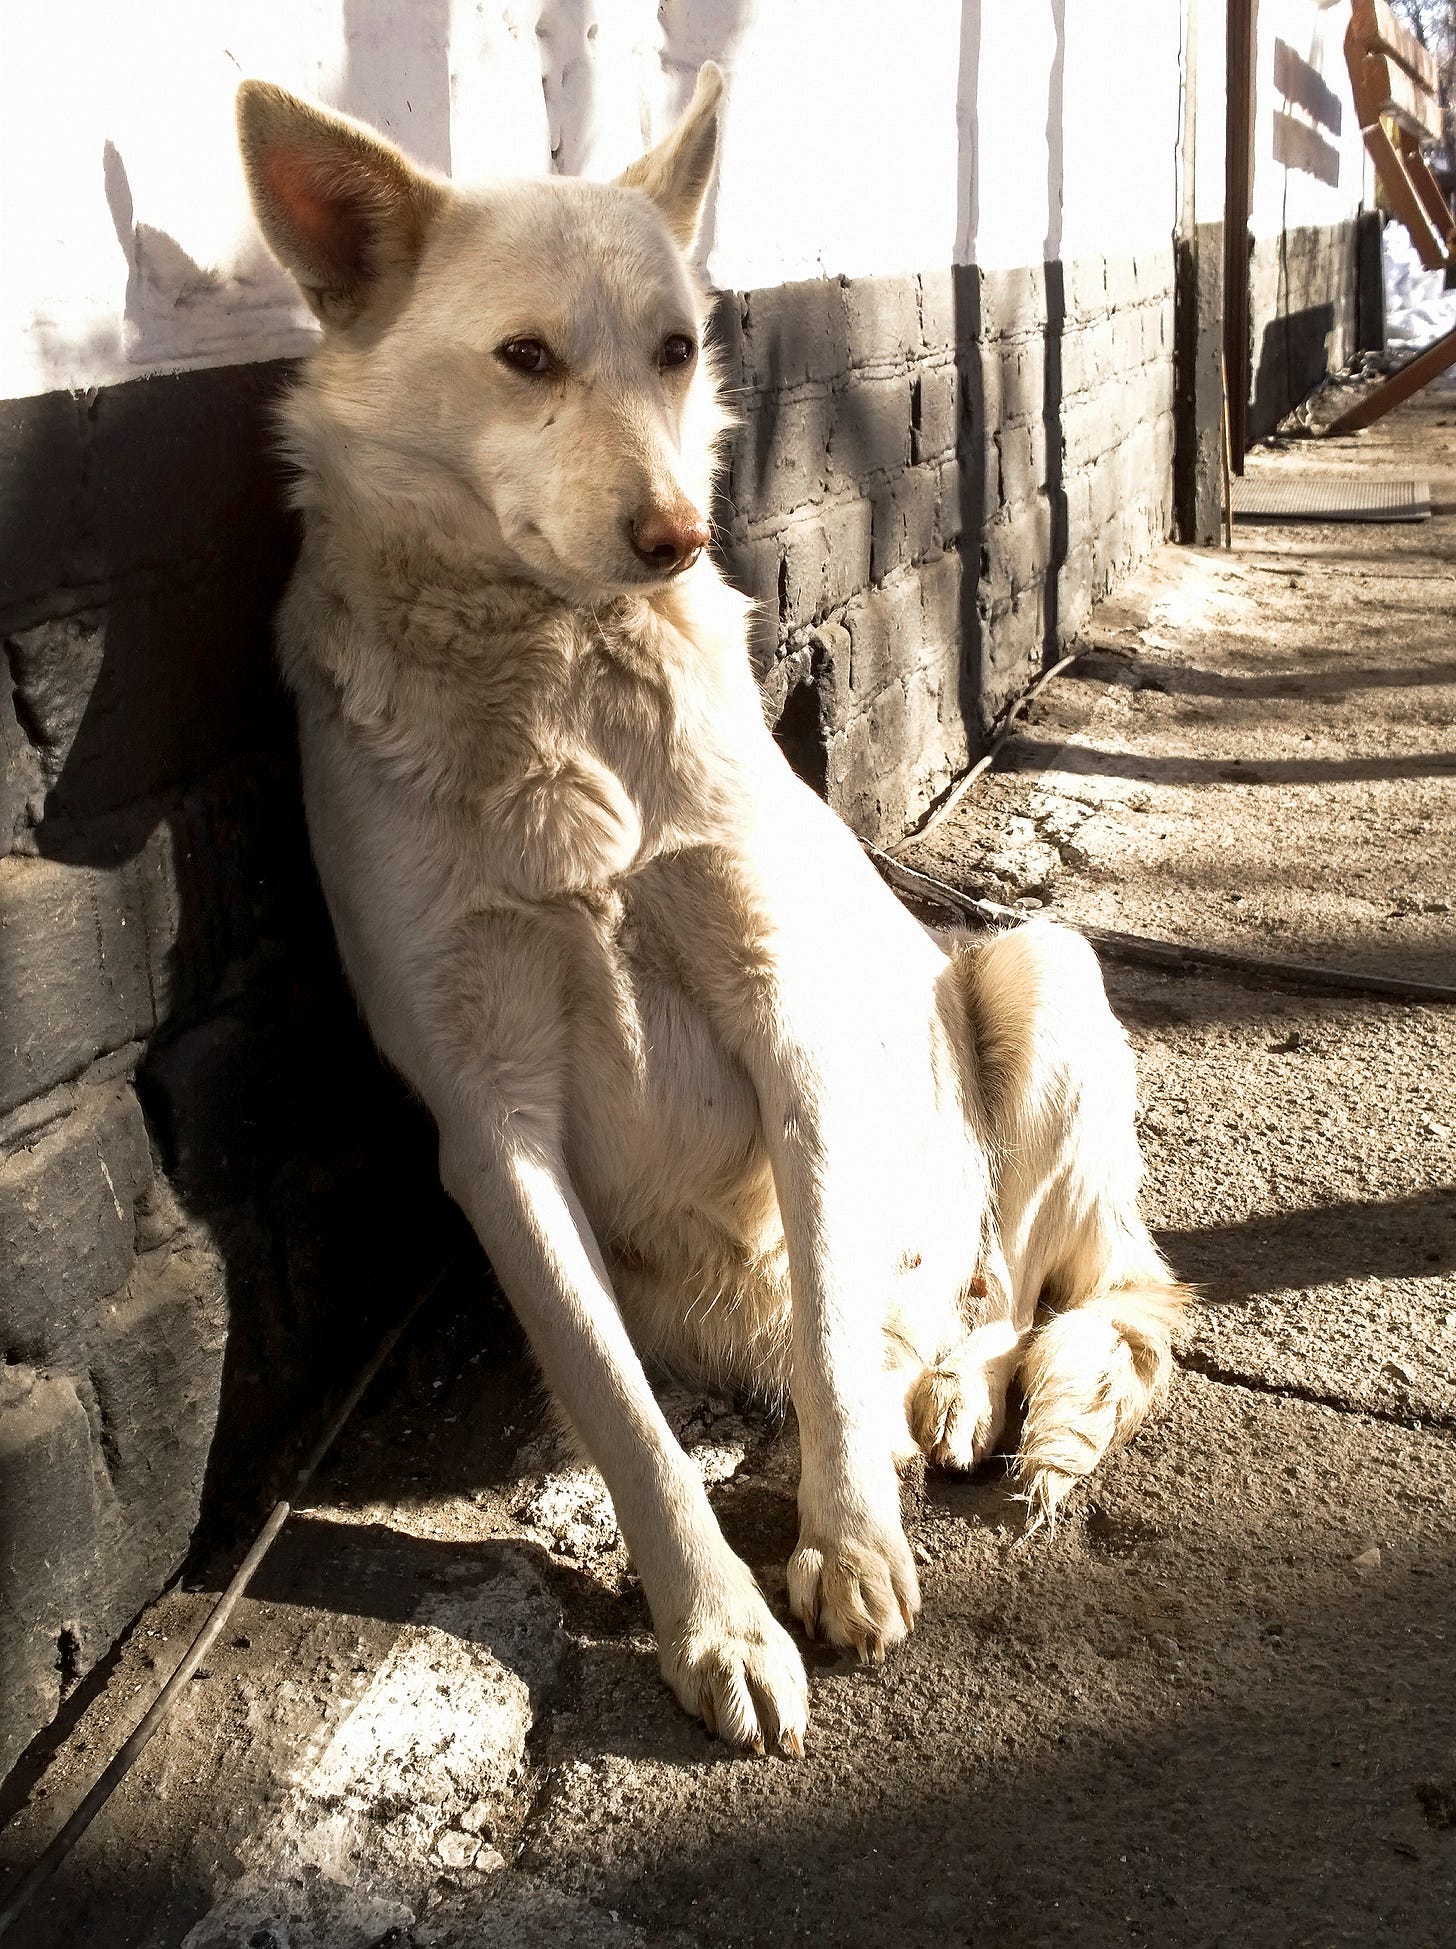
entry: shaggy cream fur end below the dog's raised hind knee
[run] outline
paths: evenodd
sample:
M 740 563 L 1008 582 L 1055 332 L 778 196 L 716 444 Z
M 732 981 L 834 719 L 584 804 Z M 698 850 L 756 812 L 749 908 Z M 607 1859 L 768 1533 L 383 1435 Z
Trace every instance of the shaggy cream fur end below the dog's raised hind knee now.
M 1031 1530 L 1109 1448 L 1129 1440 L 1168 1394 L 1173 1331 L 1189 1286 L 1169 1273 L 1093 1292 L 1039 1325 L 1021 1357 L 1025 1425 L 1017 1466 Z

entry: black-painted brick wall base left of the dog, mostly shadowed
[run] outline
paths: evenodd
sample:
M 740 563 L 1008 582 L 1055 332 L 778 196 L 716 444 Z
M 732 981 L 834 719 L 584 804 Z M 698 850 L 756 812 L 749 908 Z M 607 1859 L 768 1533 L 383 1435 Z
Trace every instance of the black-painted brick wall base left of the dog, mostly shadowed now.
M 308 865 L 281 372 L 0 407 L 0 1774 L 452 1224 Z

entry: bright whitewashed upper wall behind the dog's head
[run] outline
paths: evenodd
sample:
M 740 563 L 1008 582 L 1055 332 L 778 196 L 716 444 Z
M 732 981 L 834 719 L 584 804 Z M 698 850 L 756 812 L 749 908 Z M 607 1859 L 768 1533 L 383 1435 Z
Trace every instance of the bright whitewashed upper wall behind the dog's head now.
M 1263 12 L 1314 18 L 1310 0 Z M 248 214 L 232 142 L 246 74 L 460 179 L 610 173 L 711 55 L 729 107 L 708 271 L 752 288 L 1166 242 L 1183 31 L 1183 0 L 14 6 L 0 398 L 308 343 Z

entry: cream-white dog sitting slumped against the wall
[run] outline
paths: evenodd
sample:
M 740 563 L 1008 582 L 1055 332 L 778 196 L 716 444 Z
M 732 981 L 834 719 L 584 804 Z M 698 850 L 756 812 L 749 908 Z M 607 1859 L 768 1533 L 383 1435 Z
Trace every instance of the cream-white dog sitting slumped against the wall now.
M 324 324 L 279 633 L 349 978 L 606 1477 L 669 1684 L 801 1752 L 803 1662 L 643 1357 L 789 1392 L 789 1608 L 881 1659 L 920 1608 L 897 1464 L 975 1468 L 1015 1382 L 1049 1516 L 1164 1388 L 1181 1288 L 1088 945 L 934 939 L 764 725 L 704 552 L 725 415 L 684 251 L 719 96 L 706 66 L 614 183 L 460 191 L 261 82 L 240 133 Z

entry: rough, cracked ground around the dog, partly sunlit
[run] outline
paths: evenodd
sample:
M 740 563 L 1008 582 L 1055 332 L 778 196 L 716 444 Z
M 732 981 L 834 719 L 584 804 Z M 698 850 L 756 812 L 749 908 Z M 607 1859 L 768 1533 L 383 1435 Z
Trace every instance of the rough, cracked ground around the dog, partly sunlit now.
M 1072 922 L 1456 982 L 1454 407 L 1257 456 L 1419 468 L 1437 515 L 1166 550 L 902 858 Z M 883 1670 L 807 1649 L 805 1762 L 737 1758 L 665 1692 L 600 1481 L 464 1269 L 12 1943 L 1456 1939 L 1456 1008 L 1105 973 L 1150 1220 L 1201 1288 L 1171 1399 L 1051 1538 L 1004 1462 L 912 1477 L 920 1629 Z M 791 1421 L 667 1407 L 782 1608 Z M 76 1700 L 0 1867 L 228 1569 Z

